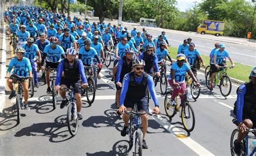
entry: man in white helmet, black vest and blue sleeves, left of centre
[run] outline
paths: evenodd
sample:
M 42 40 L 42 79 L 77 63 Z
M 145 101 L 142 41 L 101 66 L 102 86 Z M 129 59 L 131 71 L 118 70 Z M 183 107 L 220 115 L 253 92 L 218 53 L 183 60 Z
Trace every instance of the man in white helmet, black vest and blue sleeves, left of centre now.
M 57 76 L 56 76 L 56 91 L 59 91 L 62 97 L 62 103 L 60 104 L 60 109 L 65 107 L 65 104 L 69 102 L 66 98 L 66 90 L 60 90 L 60 88 L 70 88 L 76 87 L 75 97 L 77 104 L 77 115 L 78 119 L 83 119 L 81 115 L 82 109 L 82 89 L 80 87 L 87 87 L 87 79 L 84 72 L 83 62 L 76 58 L 76 50 L 72 47 L 66 51 L 66 59 L 59 62 Z M 64 76 L 62 76 L 64 73 Z M 82 80 L 81 80 L 82 79 Z

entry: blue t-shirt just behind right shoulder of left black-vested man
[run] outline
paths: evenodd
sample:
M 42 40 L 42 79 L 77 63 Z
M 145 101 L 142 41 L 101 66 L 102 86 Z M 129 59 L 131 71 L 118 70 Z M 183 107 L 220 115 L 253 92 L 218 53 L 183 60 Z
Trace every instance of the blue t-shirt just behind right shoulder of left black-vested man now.
M 91 65 L 93 58 L 95 57 L 95 55 L 97 55 L 97 52 L 93 47 L 90 47 L 89 51 L 86 51 L 85 47 L 81 47 L 79 49 L 79 55 L 80 54 L 82 55 L 81 60 L 83 61 L 83 63 L 85 65 Z

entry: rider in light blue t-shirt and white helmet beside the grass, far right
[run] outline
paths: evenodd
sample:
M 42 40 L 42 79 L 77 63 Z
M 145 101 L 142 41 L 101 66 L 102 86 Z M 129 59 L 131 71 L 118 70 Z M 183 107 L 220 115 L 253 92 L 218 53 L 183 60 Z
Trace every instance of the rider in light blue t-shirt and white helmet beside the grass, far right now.
M 220 48 L 217 49 L 214 53 L 213 62 L 211 62 L 210 88 L 208 88 L 210 90 L 213 90 L 213 79 L 215 77 L 216 72 L 219 72 L 220 70 L 223 70 L 223 68 L 219 69 L 219 66 L 225 66 L 226 65 L 225 57 L 227 57 L 228 60 L 230 60 L 231 67 L 232 68 L 235 67 L 235 65 L 233 63 L 233 60 L 230 57 L 230 54 L 228 53 L 228 51 L 225 50 L 225 45 L 220 44 L 219 47 Z

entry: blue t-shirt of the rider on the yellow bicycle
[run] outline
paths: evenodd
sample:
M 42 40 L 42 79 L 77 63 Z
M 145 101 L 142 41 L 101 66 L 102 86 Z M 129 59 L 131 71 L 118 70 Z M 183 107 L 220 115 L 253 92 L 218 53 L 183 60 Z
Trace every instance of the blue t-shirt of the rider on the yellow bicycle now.
M 186 73 L 188 70 L 190 70 L 190 67 L 187 65 L 187 63 L 184 63 L 182 67 L 179 67 L 178 63 L 176 62 L 172 65 L 171 69 L 175 70 L 175 77 L 174 77 L 175 81 L 179 83 L 184 83 Z M 173 79 L 173 77 L 171 78 Z

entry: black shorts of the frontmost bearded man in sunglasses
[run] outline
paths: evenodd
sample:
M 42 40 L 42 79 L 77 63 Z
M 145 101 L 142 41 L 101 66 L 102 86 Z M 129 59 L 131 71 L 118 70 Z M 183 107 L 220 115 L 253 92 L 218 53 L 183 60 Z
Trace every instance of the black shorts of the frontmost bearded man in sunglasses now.
M 147 103 L 146 97 L 143 97 L 142 99 L 140 99 L 138 101 L 134 101 L 131 98 L 125 98 L 124 106 L 126 108 L 133 108 L 135 103 L 137 103 L 138 111 L 140 111 L 140 110 L 149 111 L 149 103 Z

